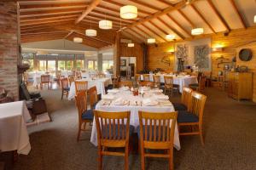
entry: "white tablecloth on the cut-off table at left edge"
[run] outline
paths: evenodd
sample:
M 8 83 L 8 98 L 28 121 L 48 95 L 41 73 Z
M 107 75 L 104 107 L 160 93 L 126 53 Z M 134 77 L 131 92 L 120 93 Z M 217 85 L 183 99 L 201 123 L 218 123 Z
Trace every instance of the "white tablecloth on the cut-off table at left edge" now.
M 31 119 L 24 101 L 0 104 L 0 150 L 17 150 L 27 155 L 31 150 L 26 120 Z

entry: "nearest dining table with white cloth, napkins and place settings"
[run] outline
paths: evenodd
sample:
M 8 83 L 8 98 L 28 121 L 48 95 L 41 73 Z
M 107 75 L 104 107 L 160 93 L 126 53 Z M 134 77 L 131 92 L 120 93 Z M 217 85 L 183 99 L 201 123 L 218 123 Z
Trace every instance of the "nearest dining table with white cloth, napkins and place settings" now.
M 128 87 L 108 90 L 108 94 L 102 95 L 102 99 L 97 103 L 96 111 L 131 111 L 130 125 L 134 126 L 135 129 L 139 126 L 139 111 L 155 112 L 155 114 L 175 111 L 169 97 L 163 94 L 161 89 L 142 87 L 140 92 L 142 94 L 133 95 Z M 97 145 L 95 119 L 92 124 L 90 142 L 95 146 Z M 174 147 L 177 150 L 181 149 L 177 122 L 174 131 Z

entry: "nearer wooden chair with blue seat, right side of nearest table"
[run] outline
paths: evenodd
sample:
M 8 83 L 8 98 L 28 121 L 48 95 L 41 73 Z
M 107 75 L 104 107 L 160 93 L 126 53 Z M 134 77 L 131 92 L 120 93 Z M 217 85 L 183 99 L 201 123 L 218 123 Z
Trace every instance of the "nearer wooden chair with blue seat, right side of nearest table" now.
M 201 144 L 204 145 L 203 139 L 203 112 L 207 96 L 198 92 L 192 92 L 191 94 L 191 106 L 188 111 L 178 111 L 177 125 L 178 127 L 190 126 L 191 132 L 179 133 L 179 135 L 195 135 L 199 134 L 201 138 Z M 193 128 L 196 127 L 196 128 Z

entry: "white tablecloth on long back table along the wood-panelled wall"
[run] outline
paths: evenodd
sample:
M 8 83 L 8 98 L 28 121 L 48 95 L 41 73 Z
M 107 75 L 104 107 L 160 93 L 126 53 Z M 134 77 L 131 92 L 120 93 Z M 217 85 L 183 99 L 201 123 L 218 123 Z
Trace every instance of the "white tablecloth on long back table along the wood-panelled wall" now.
M 173 83 L 179 85 L 179 92 L 183 92 L 183 87 L 188 88 L 189 84 L 197 83 L 197 77 L 189 76 L 171 76 L 171 75 L 160 75 L 160 82 L 165 82 L 165 76 L 173 77 Z M 153 82 L 153 74 L 149 74 L 150 81 Z M 143 75 L 141 75 L 141 80 L 143 80 Z

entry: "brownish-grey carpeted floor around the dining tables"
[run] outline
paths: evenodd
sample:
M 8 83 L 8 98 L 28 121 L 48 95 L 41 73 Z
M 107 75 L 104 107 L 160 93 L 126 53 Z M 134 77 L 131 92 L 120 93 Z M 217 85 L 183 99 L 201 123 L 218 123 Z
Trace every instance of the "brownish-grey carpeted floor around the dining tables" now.
M 52 122 L 29 127 L 32 150 L 19 156 L 14 169 L 96 169 L 97 149 L 90 144 L 90 131 L 76 142 L 78 113 L 74 101 L 63 99 L 59 90 L 42 92 Z M 198 136 L 180 138 L 174 150 L 175 169 L 256 169 L 256 105 L 238 102 L 218 89 L 208 88 L 204 116 L 205 147 Z M 172 101 L 178 101 L 176 95 Z M 122 157 L 103 158 L 103 169 L 123 169 Z M 140 158 L 131 155 L 130 169 L 140 169 Z M 168 169 L 164 159 L 147 159 L 147 169 Z

